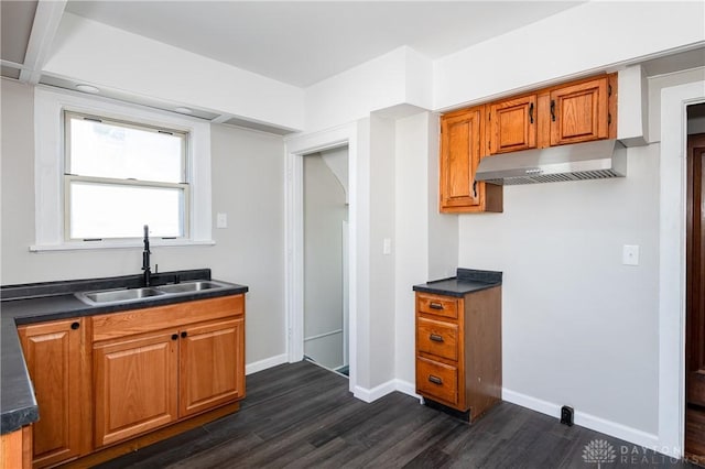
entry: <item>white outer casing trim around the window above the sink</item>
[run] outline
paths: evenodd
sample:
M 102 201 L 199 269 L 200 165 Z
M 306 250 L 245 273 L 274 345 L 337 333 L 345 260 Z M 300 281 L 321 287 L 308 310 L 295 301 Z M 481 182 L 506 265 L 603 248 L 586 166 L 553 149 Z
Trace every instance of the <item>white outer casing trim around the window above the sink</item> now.
M 126 105 L 111 99 L 37 86 L 34 90 L 35 244 L 30 251 L 141 247 L 141 239 L 66 240 L 64 204 L 64 111 L 98 114 L 189 133 L 186 174 L 189 176 L 187 238 L 152 239 L 152 246 L 215 244 L 212 239 L 210 124 L 195 118 Z

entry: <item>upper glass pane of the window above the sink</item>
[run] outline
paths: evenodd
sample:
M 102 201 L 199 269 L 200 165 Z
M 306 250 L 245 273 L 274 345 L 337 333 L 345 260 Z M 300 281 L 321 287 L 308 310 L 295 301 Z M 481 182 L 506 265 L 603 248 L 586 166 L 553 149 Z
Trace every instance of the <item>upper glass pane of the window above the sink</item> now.
M 69 116 L 67 173 L 82 176 L 183 183 L 183 133 L 160 133 Z

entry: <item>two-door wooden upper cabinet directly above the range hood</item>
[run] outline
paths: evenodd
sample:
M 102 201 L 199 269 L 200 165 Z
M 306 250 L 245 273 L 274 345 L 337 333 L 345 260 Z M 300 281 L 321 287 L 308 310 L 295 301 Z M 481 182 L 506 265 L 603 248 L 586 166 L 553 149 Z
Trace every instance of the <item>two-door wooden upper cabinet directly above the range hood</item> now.
M 617 74 L 486 105 L 485 154 L 617 138 Z

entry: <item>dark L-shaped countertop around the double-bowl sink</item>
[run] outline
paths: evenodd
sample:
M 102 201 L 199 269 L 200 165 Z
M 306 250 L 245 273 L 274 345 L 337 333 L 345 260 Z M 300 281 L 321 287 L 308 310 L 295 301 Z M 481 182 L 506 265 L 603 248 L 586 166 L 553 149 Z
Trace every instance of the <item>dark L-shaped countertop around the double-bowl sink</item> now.
M 153 285 L 178 281 L 212 280 L 209 269 L 165 272 L 152 275 Z M 74 296 L 76 292 L 138 287 L 142 275 L 46 282 L 0 287 L 0 434 L 14 432 L 39 419 L 34 389 L 26 370 L 18 325 L 42 323 L 97 314 L 162 306 L 193 299 L 214 298 L 248 292 L 245 285 L 221 282 L 225 288 L 148 297 L 129 303 L 89 306 Z

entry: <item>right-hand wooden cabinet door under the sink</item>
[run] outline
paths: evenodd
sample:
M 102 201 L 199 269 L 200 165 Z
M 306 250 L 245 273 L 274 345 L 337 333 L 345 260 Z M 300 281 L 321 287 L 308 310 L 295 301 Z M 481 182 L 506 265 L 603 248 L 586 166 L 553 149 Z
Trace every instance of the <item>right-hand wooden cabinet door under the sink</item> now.
M 245 396 L 245 319 L 186 327 L 180 342 L 180 417 Z

